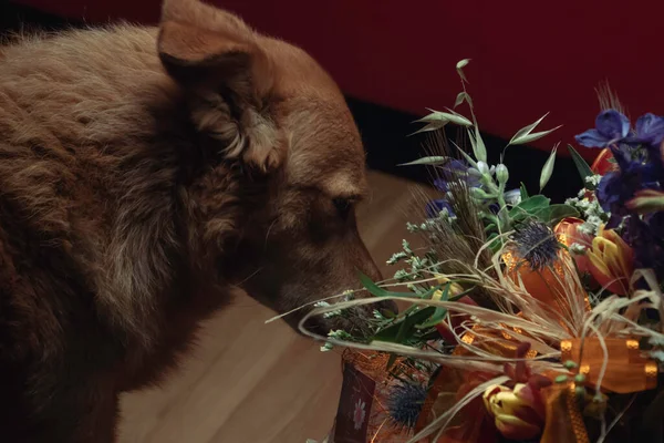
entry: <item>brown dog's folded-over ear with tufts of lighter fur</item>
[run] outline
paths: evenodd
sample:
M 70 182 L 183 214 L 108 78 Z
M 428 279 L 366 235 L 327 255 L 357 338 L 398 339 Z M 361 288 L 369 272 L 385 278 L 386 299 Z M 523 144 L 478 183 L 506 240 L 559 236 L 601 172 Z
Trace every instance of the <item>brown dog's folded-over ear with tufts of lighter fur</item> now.
M 262 172 L 283 162 L 268 114 L 273 70 L 260 37 L 237 17 L 197 0 L 165 0 L 158 53 L 187 94 L 191 120 L 224 155 Z

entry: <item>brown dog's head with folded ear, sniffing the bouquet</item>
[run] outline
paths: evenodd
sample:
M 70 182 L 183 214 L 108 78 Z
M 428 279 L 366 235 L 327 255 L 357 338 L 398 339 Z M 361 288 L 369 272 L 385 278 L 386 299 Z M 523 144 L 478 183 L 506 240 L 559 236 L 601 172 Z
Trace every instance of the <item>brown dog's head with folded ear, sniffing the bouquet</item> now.
M 232 262 L 224 264 L 237 284 L 287 312 L 356 288 L 359 270 L 380 279 L 355 222 L 367 193 L 364 150 L 343 95 L 318 63 L 195 0 L 166 0 L 158 50 L 189 95 L 196 130 L 261 183 L 248 197 L 250 217 L 234 227 L 241 240 Z M 215 216 L 208 225 L 222 224 Z M 297 324 L 303 312 L 287 320 Z

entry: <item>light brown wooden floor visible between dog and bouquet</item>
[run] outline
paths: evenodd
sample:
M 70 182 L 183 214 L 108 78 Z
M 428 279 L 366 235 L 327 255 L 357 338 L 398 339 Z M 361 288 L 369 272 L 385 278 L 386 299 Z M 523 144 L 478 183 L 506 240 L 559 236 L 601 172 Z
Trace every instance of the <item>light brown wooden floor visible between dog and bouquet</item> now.
M 359 214 L 385 276 L 406 236 L 413 185 L 371 173 Z M 330 430 L 341 387 L 336 352 L 301 338 L 249 297 L 211 320 L 183 370 L 160 390 L 127 394 L 121 443 L 304 443 Z

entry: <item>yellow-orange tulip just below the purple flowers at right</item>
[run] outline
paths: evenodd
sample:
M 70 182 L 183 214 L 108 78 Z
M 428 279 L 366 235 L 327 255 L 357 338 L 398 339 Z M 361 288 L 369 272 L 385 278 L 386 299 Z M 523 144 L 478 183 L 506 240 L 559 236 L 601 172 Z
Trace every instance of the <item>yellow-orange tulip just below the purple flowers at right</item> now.
M 593 278 L 611 292 L 626 296 L 634 271 L 634 251 L 625 240 L 615 230 L 602 226 L 587 254 Z

